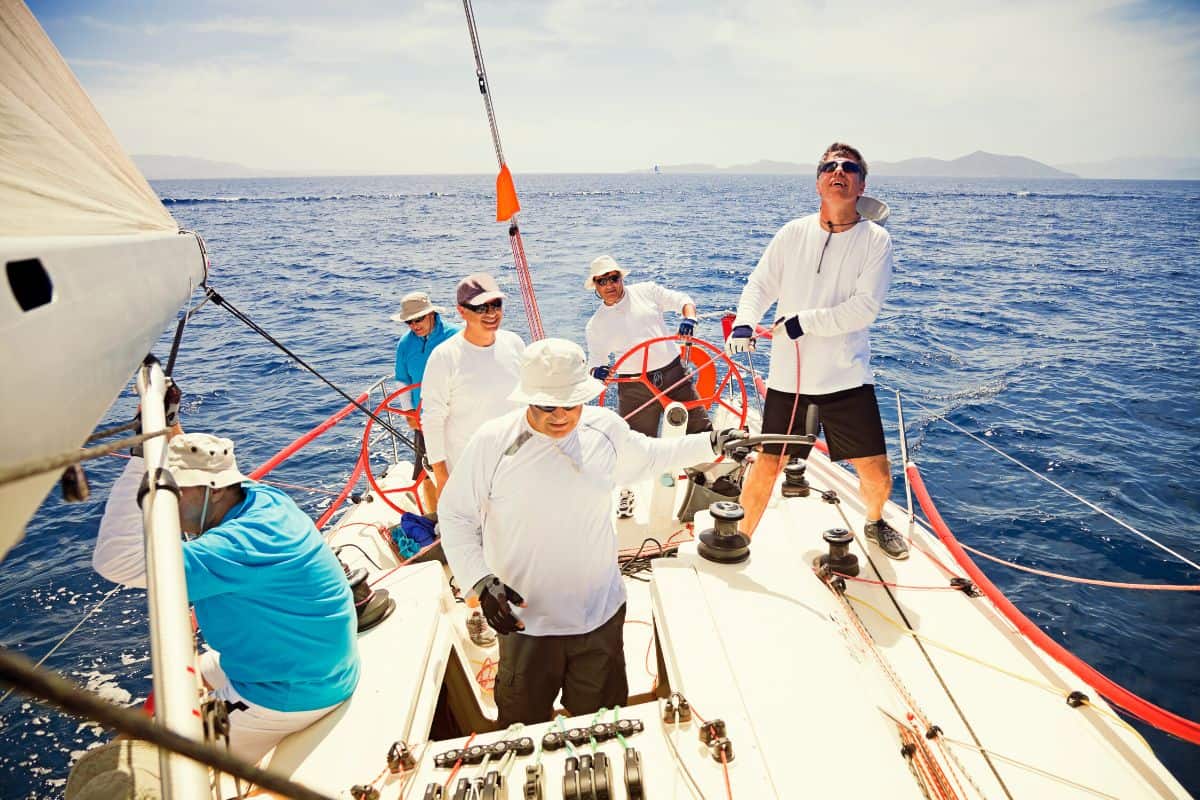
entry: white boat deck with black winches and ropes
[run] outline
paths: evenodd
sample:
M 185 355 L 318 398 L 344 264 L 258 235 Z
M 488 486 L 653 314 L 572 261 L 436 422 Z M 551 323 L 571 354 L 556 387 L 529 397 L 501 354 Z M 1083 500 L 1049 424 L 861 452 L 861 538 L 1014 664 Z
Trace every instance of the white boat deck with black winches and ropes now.
M 406 465 L 397 469 L 397 475 L 407 476 Z M 772 501 L 744 564 L 708 563 L 689 541 L 678 557 L 654 563 L 650 583 L 626 579 L 631 694 L 646 697 L 668 684 L 697 715 L 689 724 L 666 726 L 661 699 L 622 709 L 623 718 L 646 724 L 629 745 L 642 754 L 647 796 L 726 796 L 721 764 L 697 740 L 702 716 L 727 726 L 734 748 L 728 765 L 732 796 L 922 798 L 893 721 L 906 721 L 910 712 L 943 732 L 938 741 L 920 741 L 950 776 L 958 796 L 1188 796 L 1093 690 L 1016 634 L 985 599 L 852 581 L 846 597 L 864 636 L 844 601 L 811 570 L 824 551 L 821 531 L 845 527 L 838 509 L 822 503 L 817 489 L 834 488 L 851 527 L 860 530 L 856 481 L 818 453 L 809 459 L 809 480 L 814 492 L 808 498 Z M 650 491 L 637 489 L 643 495 Z M 648 533 L 648 506 L 640 498 L 638 516 L 619 522 L 623 551 L 636 548 Z M 899 530 L 907 529 L 901 510 L 889 506 L 888 515 Z M 384 504 L 360 504 L 346 515 L 334 543 L 356 543 L 388 567 L 394 557 L 376 529 L 353 523 L 390 522 L 394 516 Z M 697 529 L 707 525 L 707 515 L 698 515 Z M 889 560 L 874 546 L 864 553 L 856 545 L 863 566 L 859 577 L 948 585 L 950 576 L 923 551 L 953 565 L 949 554 L 919 525 L 913 536 L 906 561 Z M 354 549 L 344 549 L 342 557 L 352 566 L 367 566 L 372 579 L 382 575 Z M 349 796 L 350 786 L 373 780 L 384 800 L 424 798 L 431 783 L 446 782 L 450 770 L 436 768 L 433 757 L 461 746 L 466 738 L 427 739 L 448 663 L 457 657 L 472 664 L 474 678 L 482 660 L 494 658 L 496 651 L 470 644 L 464 607 L 455 602 L 445 578 L 440 565 L 421 564 L 402 567 L 378 584 L 398 607 L 384 625 L 360 638 L 364 675 L 354 698 L 286 740 L 271 758 L 272 768 L 338 798 Z M 905 618 L 923 637 L 924 651 L 905 632 Z M 666 664 L 661 676 L 655 674 L 655 631 Z M 494 718 L 491 693 L 475 680 L 470 684 L 481 712 Z M 1070 708 L 1064 698 L 1075 690 L 1087 693 L 1093 706 Z M 592 721 L 588 715 L 565 726 Z M 924 732 L 919 722 L 911 724 Z M 492 730 L 480 733 L 473 744 L 516 735 L 540 741 L 551 729 L 557 727 L 532 726 L 520 734 Z M 412 774 L 385 770 L 385 754 L 397 740 L 408 742 L 419 758 Z M 611 796 L 623 800 L 622 746 L 608 741 L 598 750 L 613 762 Z M 563 796 L 566 756 L 559 750 L 541 757 L 547 799 Z M 508 796 L 522 796 L 524 768 L 534 759 L 509 764 Z M 464 765 L 452 783 L 496 768 L 494 763 Z M 448 787 L 445 798 L 454 796 L 454 788 Z

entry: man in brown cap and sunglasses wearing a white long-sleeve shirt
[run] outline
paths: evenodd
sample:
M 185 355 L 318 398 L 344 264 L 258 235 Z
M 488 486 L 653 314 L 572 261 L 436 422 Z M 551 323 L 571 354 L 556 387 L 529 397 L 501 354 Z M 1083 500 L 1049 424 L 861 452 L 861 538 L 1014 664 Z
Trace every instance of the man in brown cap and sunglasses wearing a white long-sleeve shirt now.
M 433 350 L 421 380 L 421 428 L 439 492 L 479 426 L 520 405 L 509 392 L 524 342 L 500 330 L 504 293 L 496 278 L 468 275 L 458 282 L 457 301 L 467 326 Z

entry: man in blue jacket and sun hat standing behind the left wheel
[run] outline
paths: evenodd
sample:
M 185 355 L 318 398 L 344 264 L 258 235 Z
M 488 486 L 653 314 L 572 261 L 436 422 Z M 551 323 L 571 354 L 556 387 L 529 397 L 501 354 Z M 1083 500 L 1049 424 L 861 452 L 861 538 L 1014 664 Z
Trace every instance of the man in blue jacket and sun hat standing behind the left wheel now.
M 408 331 L 396 342 L 396 383 L 401 386 L 421 383 L 425 377 L 425 363 L 430 360 L 433 348 L 462 330 L 442 319 L 444 313 L 445 309 L 434 306 L 424 291 L 412 291 L 400 301 L 400 311 L 392 314 L 391 319 L 408 325 Z M 401 408 L 416 409 L 421 404 L 421 390 L 414 389 L 401 395 L 398 399 Z M 404 420 L 413 429 L 413 444 L 416 445 L 416 452 L 413 453 L 415 481 L 421 470 L 428 468 L 425 463 L 425 434 L 421 433 L 420 419 L 415 414 L 406 416 Z M 428 481 L 421 483 L 421 501 L 425 504 L 426 513 L 437 511 L 437 492 Z

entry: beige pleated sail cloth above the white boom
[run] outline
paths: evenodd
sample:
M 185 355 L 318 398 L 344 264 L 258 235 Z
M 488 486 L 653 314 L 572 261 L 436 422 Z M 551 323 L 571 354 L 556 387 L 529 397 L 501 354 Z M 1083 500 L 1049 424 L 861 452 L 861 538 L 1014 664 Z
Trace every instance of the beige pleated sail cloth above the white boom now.
M 0 0 L 0 236 L 179 225 L 19 0 Z

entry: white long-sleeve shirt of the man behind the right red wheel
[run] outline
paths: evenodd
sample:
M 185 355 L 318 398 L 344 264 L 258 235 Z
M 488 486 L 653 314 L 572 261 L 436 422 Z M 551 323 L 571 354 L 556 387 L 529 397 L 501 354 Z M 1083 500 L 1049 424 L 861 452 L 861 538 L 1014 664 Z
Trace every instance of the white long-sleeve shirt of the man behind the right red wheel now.
M 664 312 L 682 314 L 683 307 L 689 303 L 696 305 L 683 291 L 666 289 L 658 283 L 626 285 L 624 297 L 611 306 L 601 305 L 588 320 L 588 368 L 605 366 L 610 354 L 620 357 L 646 339 L 670 336 L 671 331 L 662 320 Z M 648 350 L 647 369 L 661 369 L 679 357 L 679 348 L 673 342 L 659 342 Z M 641 357 L 630 359 L 619 369 L 623 373 L 641 371 Z

